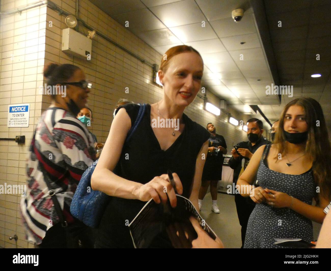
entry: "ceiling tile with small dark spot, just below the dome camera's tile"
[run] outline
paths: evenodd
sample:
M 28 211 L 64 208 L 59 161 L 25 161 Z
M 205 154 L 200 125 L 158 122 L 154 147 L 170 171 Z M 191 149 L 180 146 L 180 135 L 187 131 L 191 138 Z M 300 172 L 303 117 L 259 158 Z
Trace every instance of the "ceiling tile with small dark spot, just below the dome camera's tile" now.
M 221 38 L 221 42 L 228 51 L 261 47 L 257 33 Z

